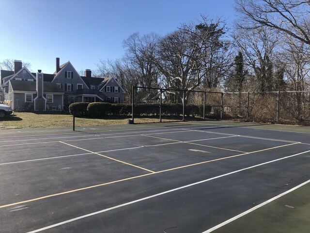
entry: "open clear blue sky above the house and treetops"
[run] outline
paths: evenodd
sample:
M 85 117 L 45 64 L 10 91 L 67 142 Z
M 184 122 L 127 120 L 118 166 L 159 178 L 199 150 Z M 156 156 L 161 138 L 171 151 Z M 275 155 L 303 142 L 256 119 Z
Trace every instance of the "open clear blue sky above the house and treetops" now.
M 55 71 L 55 59 L 96 69 L 124 54 L 130 34 L 165 35 L 201 15 L 231 23 L 233 0 L 0 0 L 0 61 Z

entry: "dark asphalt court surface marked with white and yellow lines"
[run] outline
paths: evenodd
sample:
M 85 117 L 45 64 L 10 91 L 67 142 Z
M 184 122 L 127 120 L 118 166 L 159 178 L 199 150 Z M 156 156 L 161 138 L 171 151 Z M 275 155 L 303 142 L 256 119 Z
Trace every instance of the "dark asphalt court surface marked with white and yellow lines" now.
M 211 232 L 310 177 L 310 132 L 179 122 L 32 134 L 0 134 L 0 232 Z

